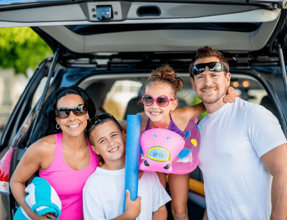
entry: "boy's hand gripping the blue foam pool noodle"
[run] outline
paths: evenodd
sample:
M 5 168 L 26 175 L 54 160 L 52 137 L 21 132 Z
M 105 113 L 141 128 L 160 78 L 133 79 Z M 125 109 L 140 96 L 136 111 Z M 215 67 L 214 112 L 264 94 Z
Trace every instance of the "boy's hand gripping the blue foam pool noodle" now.
M 136 198 L 136 200 L 132 201 L 131 200 L 131 194 L 129 192 L 129 190 L 127 189 L 125 191 L 125 217 L 126 219 L 135 219 L 136 217 L 138 217 L 140 215 L 140 210 L 141 210 L 141 197 L 138 196 Z

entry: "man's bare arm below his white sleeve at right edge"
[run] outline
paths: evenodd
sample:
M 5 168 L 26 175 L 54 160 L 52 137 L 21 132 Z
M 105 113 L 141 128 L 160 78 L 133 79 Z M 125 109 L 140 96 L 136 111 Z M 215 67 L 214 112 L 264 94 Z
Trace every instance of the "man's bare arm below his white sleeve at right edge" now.
M 273 176 L 270 220 L 287 219 L 287 144 L 268 151 L 260 160 Z

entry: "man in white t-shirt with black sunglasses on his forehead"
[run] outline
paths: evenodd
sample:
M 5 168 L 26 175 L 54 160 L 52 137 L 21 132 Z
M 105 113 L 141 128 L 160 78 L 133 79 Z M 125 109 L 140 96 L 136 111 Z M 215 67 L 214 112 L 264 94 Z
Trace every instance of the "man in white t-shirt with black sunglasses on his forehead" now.
M 219 51 L 199 48 L 190 75 L 207 110 L 198 125 L 207 207 L 203 219 L 286 220 L 287 141 L 278 119 L 238 97 L 224 104 L 231 75 Z

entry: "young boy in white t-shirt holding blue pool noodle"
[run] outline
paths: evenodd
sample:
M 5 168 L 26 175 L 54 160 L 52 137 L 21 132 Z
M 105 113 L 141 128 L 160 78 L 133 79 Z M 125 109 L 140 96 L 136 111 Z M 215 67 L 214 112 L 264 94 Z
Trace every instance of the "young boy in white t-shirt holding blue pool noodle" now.
M 140 171 L 138 197 L 130 200 L 125 186 L 125 133 L 108 113 L 92 119 L 88 138 L 104 164 L 88 178 L 83 189 L 84 218 L 87 220 L 166 220 L 165 204 L 171 200 L 155 172 Z M 89 125 L 88 125 L 89 127 Z M 89 128 L 88 128 L 89 129 Z

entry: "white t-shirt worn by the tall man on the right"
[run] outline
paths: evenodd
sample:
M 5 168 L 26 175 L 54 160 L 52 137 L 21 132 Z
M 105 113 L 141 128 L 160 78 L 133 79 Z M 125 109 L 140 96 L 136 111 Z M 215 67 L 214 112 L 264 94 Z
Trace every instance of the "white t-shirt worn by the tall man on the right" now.
M 240 98 L 199 123 L 198 166 L 209 219 L 270 219 L 271 176 L 260 157 L 286 143 L 278 119 Z

